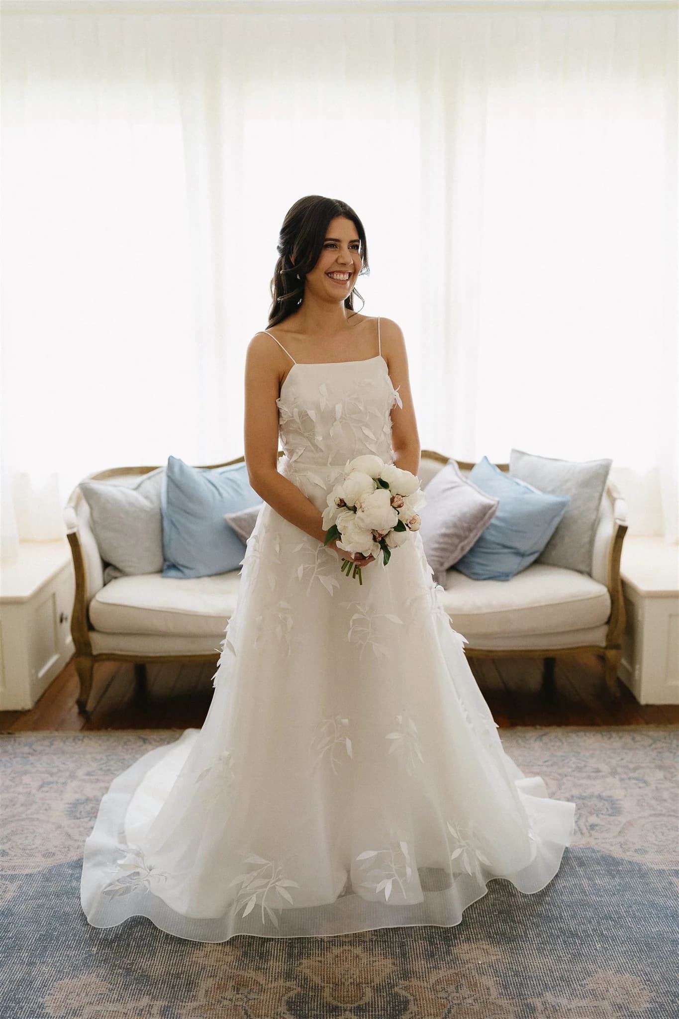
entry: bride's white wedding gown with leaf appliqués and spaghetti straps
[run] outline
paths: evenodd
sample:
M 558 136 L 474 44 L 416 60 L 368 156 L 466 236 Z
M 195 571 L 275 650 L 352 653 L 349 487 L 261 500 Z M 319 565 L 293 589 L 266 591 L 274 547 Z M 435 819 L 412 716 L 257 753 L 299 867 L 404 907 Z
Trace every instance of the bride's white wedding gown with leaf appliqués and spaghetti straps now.
M 348 460 L 393 462 L 395 403 L 381 353 L 293 364 L 282 473 L 322 511 Z M 203 729 L 102 799 L 82 864 L 91 924 L 144 915 L 201 942 L 447 926 L 491 878 L 534 893 L 554 877 L 575 804 L 504 752 L 420 535 L 362 586 L 340 565 L 263 505 Z

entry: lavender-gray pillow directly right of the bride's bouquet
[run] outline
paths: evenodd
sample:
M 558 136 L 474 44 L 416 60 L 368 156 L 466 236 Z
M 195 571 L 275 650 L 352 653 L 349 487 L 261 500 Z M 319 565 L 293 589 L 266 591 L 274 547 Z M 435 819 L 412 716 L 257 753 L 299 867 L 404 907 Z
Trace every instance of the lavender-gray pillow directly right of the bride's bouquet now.
M 449 460 L 423 489 L 419 534 L 434 580 L 446 586 L 446 571 L 467 552 L 491 523 L 500 499 L 487 495 Z

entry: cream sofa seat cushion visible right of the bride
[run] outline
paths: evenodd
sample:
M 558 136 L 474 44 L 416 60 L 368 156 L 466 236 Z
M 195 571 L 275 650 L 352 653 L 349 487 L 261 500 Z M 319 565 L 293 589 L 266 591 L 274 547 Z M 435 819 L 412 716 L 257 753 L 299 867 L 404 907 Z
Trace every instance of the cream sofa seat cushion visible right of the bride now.
M 611 613 L 603 584 L 544 562 L 531 564 L 510 581 L 472 580 L 451 568 L 443 604 L 455 630 L 469 639 L 591 629 L 603 626 Z

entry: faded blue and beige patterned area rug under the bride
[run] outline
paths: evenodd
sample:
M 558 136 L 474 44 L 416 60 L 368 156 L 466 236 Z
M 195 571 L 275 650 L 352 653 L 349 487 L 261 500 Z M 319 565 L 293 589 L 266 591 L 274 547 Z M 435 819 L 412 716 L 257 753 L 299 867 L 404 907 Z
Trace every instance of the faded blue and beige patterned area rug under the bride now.
M 81 850 L 119 771 L 175 730 L 0 737 L 2 1019 L 676 1019 L 672 727 L 500 731 L 576 836 L 542 892 L 494 879 L 453 927 L 201 944 L 146 917 L 98 930 Z

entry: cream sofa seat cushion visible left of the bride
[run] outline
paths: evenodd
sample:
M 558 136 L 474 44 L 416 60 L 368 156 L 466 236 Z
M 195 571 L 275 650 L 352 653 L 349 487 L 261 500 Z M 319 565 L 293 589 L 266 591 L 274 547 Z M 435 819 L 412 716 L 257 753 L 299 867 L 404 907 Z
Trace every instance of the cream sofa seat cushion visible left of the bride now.
M 224 633 L 239 583 L 239 569 L 213 577 L 118 577 L 90 602 L 90 621 L 110 634 Z

